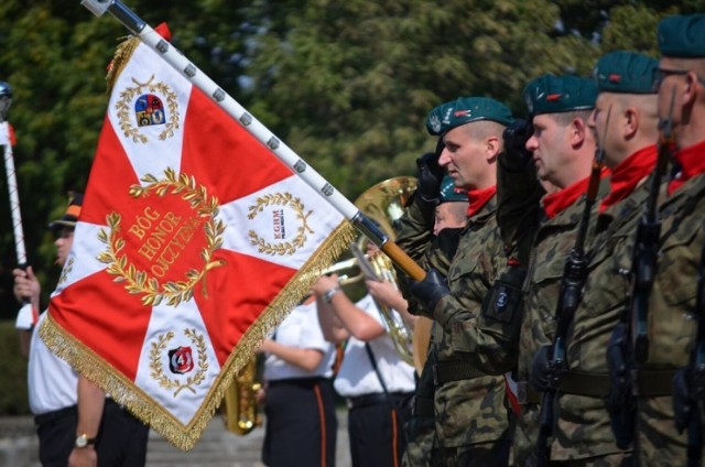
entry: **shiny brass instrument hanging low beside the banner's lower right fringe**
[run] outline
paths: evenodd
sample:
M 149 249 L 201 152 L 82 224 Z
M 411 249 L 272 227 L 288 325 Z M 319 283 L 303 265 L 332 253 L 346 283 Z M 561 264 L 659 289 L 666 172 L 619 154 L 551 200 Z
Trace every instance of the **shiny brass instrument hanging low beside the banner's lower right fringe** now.
M 257 380 L 257 356 L 252 356 L 223 398 L 220 410 L 226 428 L 236 435 L 247 435 L 261 425 L 257 410 L 257 393 L 261 388 Z

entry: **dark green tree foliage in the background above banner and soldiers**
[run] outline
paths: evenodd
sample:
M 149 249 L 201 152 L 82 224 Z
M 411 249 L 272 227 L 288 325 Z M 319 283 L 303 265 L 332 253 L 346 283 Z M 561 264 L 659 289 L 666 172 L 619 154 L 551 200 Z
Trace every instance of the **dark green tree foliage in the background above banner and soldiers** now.
M 654 56 L 655 25 L 687 0 L 123 0 L 349 198 L 412 175 L 434 146 L 424 129 L 436 105 L 492 96 L 524 113 L 521 90 L 542 73 L 590 73 L 617 48 Z M 0 79 L 14 89 L 10 121 L 30 261 L 45 296 L 54 284 L 46 221 L 87 182 L 105 116 L 105 69 L 127 31 L 79 4 L 0 2 Z M 4 177 L 0 196 L 7 199 Z M 0 296 L 14 267 L 0 203 Z

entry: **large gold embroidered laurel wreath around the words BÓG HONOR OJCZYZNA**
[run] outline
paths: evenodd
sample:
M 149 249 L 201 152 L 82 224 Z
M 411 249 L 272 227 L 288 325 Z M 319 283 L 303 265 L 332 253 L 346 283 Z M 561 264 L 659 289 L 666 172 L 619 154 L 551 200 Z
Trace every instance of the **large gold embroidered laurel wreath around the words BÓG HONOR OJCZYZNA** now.
M 203 293 L 206 296 L 206 272 L 225 264 L 224 260 L 212 261 L 214 251 L 223 246 L 225 231 L 225 224 L 215 218 L 218 214 L 218 199 L 215 196 L 208 197 L 206 188 L 203 185 L 198 186 L 193 176 L 183 173 L 176 176 L 172 169 L 166 169 L 164 176 L 165 180 L 158 180 L 147 174 L 141 178 L 147 185 L 132 185 L 129 193 L 134 198 L 147 197 L 152 192 L 158 196 L 181 194 L 182 199 L 188 202 L 198 216 L 208 218 L 204 225 L 206 247 L 200 251 L 205 265 L 200 271 L 192 268 L 186 272 L 184 281 L 167 281 L 160 286 L 156 278 L 138 270 L 129 262 L 127 254 L 120 254 L 124 248 L 124 239 L 120 236 L 121 216 L 118 213 L 111 213 L 107 217 L 110 234 L 105 229 L 98 232 L 98 239 L 108 246 L 108 249 L 98 256 L 98 260 L 110 264 L 108 273 L 116 275 L 115 282 L 126 282 L 124 289 L 130 294 L 144 294 L 141 300 L 143 305 L 159 305 L 165 300 L 166 304 L 176 306 L 182 301 L 193 297 L 194 286 L 200 280 L 204 281 Z

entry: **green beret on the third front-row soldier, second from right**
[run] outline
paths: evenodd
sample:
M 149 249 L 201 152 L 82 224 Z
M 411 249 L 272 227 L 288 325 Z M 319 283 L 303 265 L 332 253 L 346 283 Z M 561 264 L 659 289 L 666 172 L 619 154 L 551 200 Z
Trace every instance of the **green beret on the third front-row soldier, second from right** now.
M 655 94 L 659 61 L 634 52 L 617 51 L 603 55 L 595 65 L 598 93 Z

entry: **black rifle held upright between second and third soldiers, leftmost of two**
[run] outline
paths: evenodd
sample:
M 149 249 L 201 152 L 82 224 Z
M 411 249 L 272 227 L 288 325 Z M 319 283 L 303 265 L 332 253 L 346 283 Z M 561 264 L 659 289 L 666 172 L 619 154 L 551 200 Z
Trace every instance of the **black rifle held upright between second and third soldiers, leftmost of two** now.
M 609 124 L 609 116 L 611 107 L 607 111 L 605 119 L 605 133 Z M 553 343 L 549 348 L 549 380 L 547 389 L 543 391 L 541 397 L 541 412 L 539 414 L 539 441 L 536 442 L 535 455 L 536 466 L 545 467 L 551 459 L 551 445 L 549 438 L 553 436 L 555 425 L 555 394 L 558 391 L 561 378 L 568 370 L 566 359 L 566 338 L 568 327 L 575 316 L 575 311 L 581 303 L 583 286 L 587 278 L 587 260 L 585 258 L 585 240 L 587 238 L 587 229 L 589 227 L 590 214 L 593 206 L 597 200 L 597 192 L 599 188 L 600 173 L 604 166 L 605 150 L 603 134 L 603 144 L 598 145 L 595 151 L 595 160 L 590 172 L 589 184 L 585 197 L 585 208 L 581 217 L 575 245 L 565 260 L 563 269 L 563 279 L 558 293 L 558 302 L 556 304 L 556 330 Z

